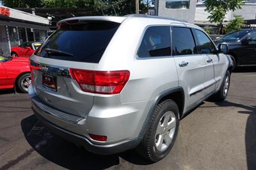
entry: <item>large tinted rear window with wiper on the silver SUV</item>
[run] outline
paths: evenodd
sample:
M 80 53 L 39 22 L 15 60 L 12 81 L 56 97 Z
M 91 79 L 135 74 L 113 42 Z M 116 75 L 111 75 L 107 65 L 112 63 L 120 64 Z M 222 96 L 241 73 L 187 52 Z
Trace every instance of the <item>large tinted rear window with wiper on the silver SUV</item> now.
M 116 22 L 61 26 L 35 54 L 43 58 L 99 63 L 118 26 Z

